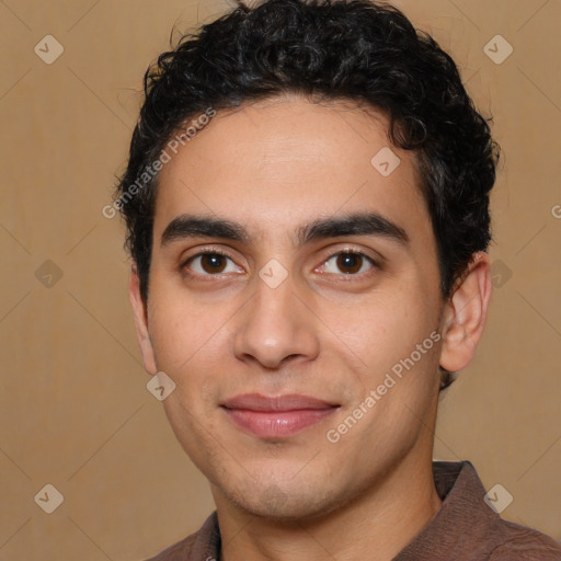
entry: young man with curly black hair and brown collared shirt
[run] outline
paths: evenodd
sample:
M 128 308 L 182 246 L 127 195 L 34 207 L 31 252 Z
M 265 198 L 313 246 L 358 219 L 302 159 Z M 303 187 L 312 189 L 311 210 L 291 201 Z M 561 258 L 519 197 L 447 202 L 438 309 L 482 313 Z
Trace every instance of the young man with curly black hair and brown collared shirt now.
M 153 560 L 561 560 L 432 461 L 491 296 L 497 146 L 388 5 L 270 0 L 145 77 L 115 205 L 147 371 L 216 512 Z

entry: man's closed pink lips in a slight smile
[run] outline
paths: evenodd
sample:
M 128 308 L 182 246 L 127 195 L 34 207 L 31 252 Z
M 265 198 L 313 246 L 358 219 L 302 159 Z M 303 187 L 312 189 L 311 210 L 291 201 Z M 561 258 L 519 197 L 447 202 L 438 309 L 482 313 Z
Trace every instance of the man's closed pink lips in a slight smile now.
M 283 438 L 320 423 L 337 409 L 309 396 L 237 396 L 220 405 L 228 419 L 242 431 L 260 438 Z

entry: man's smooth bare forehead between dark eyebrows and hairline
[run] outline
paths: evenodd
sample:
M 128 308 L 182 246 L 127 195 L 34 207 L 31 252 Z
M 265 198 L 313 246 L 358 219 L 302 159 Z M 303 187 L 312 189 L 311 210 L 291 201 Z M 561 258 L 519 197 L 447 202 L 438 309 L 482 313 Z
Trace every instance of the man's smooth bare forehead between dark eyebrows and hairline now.
M 413 156 L 391 146 L 387 117 L 371 107 L 295 95 L 245 104 L 219 112 L 171 156 L 156 237 L 182 214 L 231 218 L 263 238 L 365 210 L 431 233 Z

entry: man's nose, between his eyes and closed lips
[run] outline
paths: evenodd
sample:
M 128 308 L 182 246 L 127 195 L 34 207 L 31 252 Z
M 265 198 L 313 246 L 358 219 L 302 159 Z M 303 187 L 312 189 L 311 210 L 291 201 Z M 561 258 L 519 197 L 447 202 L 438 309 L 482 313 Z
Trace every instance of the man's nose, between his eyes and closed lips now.
M 233 353 L 262 368 L 280 368 L 289 360 L 309 360 L 319 353 L 319 318 L 297 295 L 291 277 L 272 288 L 255 278 L 255 293 L 236 317 Z

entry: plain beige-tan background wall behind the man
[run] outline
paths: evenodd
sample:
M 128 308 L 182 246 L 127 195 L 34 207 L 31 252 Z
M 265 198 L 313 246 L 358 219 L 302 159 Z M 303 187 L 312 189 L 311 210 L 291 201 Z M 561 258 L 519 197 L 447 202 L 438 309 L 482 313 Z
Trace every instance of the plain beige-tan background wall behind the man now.
M 443 400 L 435 457 L 470 459 L 513 495 L 504 517 L 561 540 L 561 2 L 398 5 L 453 53 L 503 148 L 489 327 Z M 213 510 L 146 389 L 123 228 L 101 209 L 147 64 L 174 24 L 225 9 L 0 1 L 0 560 L 142 559 Z M 34 53 L 47 34 L 65 49 L 51 65 Z M 501 65 L 483 50 L 496 34 L 514 47 Z M 34 502 L 47 483 L 64 495 L 53 514 Z

